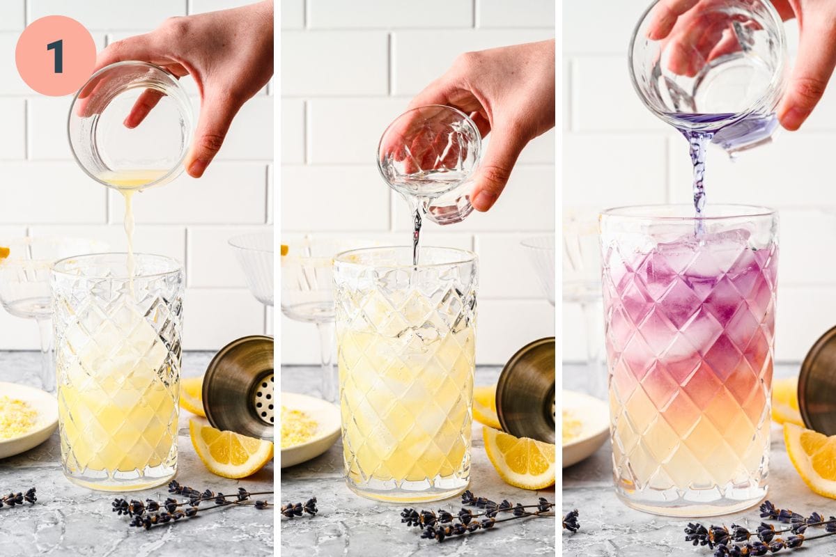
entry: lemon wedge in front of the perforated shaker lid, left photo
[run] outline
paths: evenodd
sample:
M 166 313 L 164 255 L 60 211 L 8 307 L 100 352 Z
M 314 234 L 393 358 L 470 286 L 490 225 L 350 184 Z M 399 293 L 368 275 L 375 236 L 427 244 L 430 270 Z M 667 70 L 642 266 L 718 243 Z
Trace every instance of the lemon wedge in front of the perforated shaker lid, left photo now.
M 246 478 L 273 458 L 273 443 L 220 431 L 189 420 L 191 444 L 210 472 L 224 478 Z

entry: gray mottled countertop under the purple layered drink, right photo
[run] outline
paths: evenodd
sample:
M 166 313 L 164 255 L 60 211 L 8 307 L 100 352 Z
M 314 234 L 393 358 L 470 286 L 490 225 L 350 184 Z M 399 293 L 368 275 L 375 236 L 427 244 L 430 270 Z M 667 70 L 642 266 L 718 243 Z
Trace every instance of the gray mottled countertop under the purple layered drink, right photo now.
M 775 377 L 798 374 L 798 364 L 782 365 Z M 583 390 L 583 369 L 564 364 L 563 385 Z M 579 509 L 581 529 L 575 534 L 563 531 L 563 555 L 619 555 L 654 557 L 655 555 L 706 555 L 707 547 L 694 548 L 685 542 L 683 529 L 688 522 L 710 524 L 735 523 L 754 529 L 761 523 L 757 506 L 736 514 L 701 519 L 666 518 L 630 509 L 615 496 L 609 441 L 592 457 L 563 470 L 563 511 Z M 825 516 L 836 514 L 836 501 L 813 494 L 805 485 L 784 448 L 782 428 L 772 426 L 769 457 L 769 492 L 767 499 L 781 509 L 808 516 L 818 511 Z M 818 530 L 818 529 L 816 529 Z M 812 534 L 814 529 L 808 530 Z M 817 555 L 836 555 L 836 544 L 826 539 L 812 541 L 809 549 Z M 781 553 L 783 554 L 783 552 Z

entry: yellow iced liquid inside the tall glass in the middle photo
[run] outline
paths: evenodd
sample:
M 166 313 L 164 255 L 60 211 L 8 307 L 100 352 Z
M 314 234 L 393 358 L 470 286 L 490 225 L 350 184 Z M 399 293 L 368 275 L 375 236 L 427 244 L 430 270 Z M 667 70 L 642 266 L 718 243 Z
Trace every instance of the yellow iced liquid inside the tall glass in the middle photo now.
M 344 332 L 339 380 L 351 484 L 429 488 L 467 477 L 474 340 L 472 327 L 408 346 L 399 337 Z

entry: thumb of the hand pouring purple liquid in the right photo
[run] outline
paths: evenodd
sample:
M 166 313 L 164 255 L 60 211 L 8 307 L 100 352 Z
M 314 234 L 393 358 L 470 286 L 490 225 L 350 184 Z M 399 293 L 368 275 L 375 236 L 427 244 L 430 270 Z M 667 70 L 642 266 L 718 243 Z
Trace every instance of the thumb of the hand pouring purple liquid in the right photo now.
M 836 65 L 836 44 L 825 29 L 805 28 L 798 44 L 796 67 L 778 109 L 781 125 L 795 131 L 813 112 Z

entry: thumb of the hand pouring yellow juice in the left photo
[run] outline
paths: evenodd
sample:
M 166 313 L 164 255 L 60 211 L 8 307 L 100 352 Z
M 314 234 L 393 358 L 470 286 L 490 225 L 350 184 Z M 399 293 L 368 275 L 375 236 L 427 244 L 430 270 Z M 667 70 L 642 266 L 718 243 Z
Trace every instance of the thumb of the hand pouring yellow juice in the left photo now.
M 206 94 L 201 103 L 200 118 L 197 119 L 195 138 L 191 141 L 191 151 L 186 156 L 186 172 L 191 177 L 200 178 L 215 158 L 241 104 L 230 94 Z

